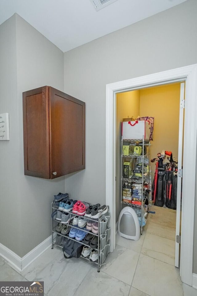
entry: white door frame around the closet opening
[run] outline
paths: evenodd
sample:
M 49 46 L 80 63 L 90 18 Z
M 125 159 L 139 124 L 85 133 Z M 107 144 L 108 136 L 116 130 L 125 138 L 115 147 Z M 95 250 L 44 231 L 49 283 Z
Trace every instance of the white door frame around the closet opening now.
M 110 251 L 112 252 L 115 249 L 116 241 L 116 93 L 177 81 L 185 81 L 186 83 L 180 275 L 184 283 L 192 286 L 197 135 L 197 64 L 106 85 L 106 204 L 110 206 L 111 211 Z

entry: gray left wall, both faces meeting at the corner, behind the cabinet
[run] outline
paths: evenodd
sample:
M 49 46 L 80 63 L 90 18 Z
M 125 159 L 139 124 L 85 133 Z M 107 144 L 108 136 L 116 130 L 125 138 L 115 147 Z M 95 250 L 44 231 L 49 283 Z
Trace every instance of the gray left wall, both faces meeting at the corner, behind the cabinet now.
M 22 92 L 63 91 L 63 52 L 17 14 L 0 26 L 0 40 L 0 110 L 10 114 L 10 141 L 0 142 L 0 242 L 23 257 L 50 236 L 51 201 L 65 183 L 24 175 Z

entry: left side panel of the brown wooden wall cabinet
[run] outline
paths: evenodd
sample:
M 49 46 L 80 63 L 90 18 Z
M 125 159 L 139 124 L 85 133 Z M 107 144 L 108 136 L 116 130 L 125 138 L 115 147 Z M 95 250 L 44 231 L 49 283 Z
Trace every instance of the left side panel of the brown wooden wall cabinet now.
M 48 86 L 23 92 L 25 175 L 50 179 Z

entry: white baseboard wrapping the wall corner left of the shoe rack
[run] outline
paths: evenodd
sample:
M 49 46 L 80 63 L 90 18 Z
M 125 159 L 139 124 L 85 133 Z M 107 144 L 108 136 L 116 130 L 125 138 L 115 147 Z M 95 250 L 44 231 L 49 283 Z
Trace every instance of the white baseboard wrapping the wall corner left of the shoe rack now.
M 55 236 L 54 236 L 55 238 Z M 38 258 L 46 249 L 51 246 L 51 235 L 37 245 L 33 250 L 27 253 L 22 258 L 16 253 L 8 249 L 0 243 L 0 256 L 3 257 L 8 264 L 21 273 L 27 266 L 29 266 L 36 258 Z

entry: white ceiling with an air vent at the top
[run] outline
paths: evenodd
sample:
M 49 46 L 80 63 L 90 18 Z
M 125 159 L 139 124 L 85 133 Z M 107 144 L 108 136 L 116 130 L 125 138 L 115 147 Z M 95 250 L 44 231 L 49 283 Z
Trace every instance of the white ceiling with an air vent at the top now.
M 63 52 L 187 0 L 118 0 L 96 11 L 90 0 L 0 0 L 0 24 L 15 12 Z

